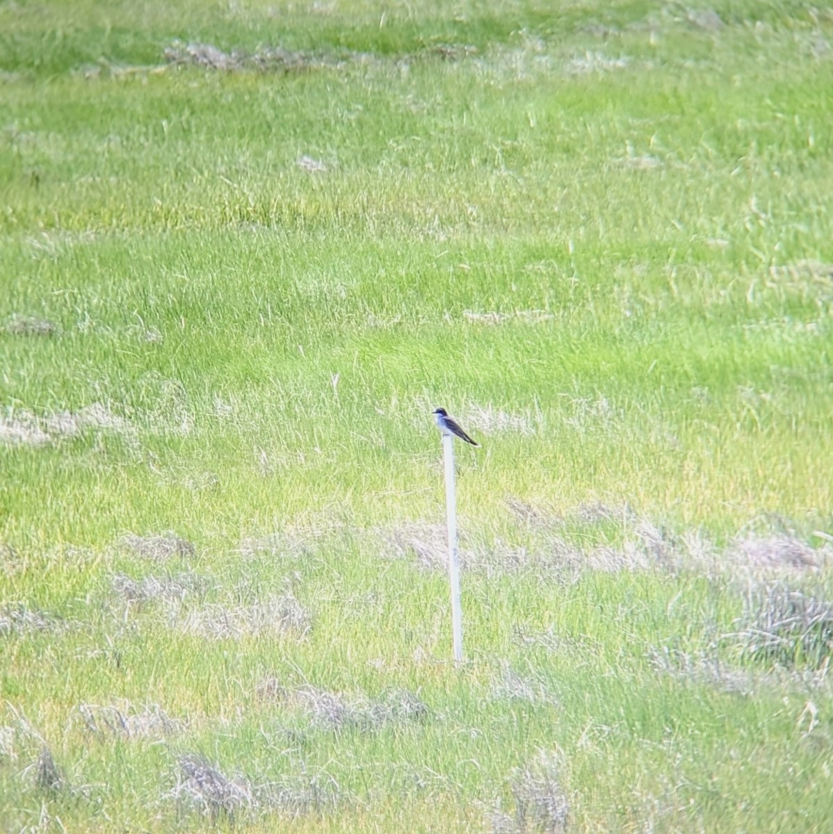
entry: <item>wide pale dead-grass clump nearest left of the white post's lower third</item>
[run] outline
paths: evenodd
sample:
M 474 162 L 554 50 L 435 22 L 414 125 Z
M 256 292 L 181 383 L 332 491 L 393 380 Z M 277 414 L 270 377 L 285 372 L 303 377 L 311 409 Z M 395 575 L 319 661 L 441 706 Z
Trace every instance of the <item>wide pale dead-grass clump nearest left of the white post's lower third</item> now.
M 310 612 L 295 596 L 285 594 L 252 605 L 204 605 L 189 611 L 179 622 L 179 629 L 211 640 L 228 640 L 285 634 L 303 637 L 310 625 Z

